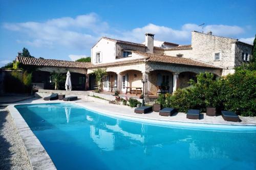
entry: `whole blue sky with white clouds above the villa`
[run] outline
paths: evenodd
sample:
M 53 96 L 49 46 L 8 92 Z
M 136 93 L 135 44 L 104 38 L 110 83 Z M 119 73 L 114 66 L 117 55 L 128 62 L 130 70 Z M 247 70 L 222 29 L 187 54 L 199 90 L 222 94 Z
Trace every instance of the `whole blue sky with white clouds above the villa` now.
M 101 36 L 143 42 L 155 39 L 190 44 L 190 31 L 251 43 L 256 1 L 23 1 L 0 0 L 0 66 L 27 47 L 46 59 L 90 56 Z

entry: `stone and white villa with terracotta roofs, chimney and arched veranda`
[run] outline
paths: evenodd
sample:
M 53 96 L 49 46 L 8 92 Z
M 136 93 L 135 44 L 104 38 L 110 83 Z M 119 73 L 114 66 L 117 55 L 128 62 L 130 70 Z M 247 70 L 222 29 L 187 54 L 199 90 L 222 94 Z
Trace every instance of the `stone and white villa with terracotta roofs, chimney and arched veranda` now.
M 237 39 L 214 36 L 211 32 L 204 34 L 191 32 L 191 44 L 154 40 L 154 34 L 146 33 L 144 43 L 134 43 L 102 37 L 91 48 L 91 63 L 69 62 L 60 60 L 58 69 L 68 69 L 86 76 L 84 88 L 93 90 L 97 68 L 106 69 L 107 75 L 103 81 L 103 91 L 126 92 L 144 89 L 145 96 L 157 96 L 160 92 L 174 92 L 177 88 L 188 86 L 190 79 L 195 79 L 200 72 L 212 72 L 216 77 L 234 72 L 234 67 L 249 61 L 252 45 Z M 23 59 L 24 60 L 24 59 Z M 40 70 L 54 70 L 47 59 L 38 61 L 17 61 L 24 64 L 41 65 Z M 30 58 L 26 60 L 32 60 Z M 55 61 L 55 62 L 57 62 Z M 79 66 L 77 66 L 79 65 Z M 142 81 L 144 80 L 144 86 Z

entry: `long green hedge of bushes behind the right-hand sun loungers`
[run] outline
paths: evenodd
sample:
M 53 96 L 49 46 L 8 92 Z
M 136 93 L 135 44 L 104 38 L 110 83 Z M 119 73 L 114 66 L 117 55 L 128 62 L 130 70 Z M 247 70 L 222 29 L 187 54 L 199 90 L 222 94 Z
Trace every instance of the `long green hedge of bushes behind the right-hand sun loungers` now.
M 197 82 L 190 81 L 184 89 L 171 94 L 160 94 L 156 103 L 174 107 L 180 112 L 188 109 L 206 110 L 207 106 L 218 110 L 231 110 L 243 116 L 256 116 L 255 64 L 241 66 L 233 75 L 215 80 L 209 72 L 197 75 Z

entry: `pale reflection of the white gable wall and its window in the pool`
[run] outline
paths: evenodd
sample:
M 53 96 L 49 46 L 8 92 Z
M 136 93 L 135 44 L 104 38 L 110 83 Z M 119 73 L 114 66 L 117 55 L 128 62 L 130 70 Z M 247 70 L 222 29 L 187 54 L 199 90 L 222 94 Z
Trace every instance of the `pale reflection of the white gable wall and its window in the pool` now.
M 90 126 L 90 135 L 93 141 L 103 151 L 113 151 L 115 147 L 115 136 L 113 133 L 103 129 Z

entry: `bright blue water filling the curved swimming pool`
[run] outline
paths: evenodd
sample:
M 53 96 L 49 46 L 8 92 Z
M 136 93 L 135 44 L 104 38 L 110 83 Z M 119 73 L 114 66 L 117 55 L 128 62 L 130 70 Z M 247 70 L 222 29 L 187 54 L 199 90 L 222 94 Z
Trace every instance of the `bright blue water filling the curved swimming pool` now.
M 57 169 L 255 169 L 256 131 L 161 127 L 70 104 L 17 110 Z

